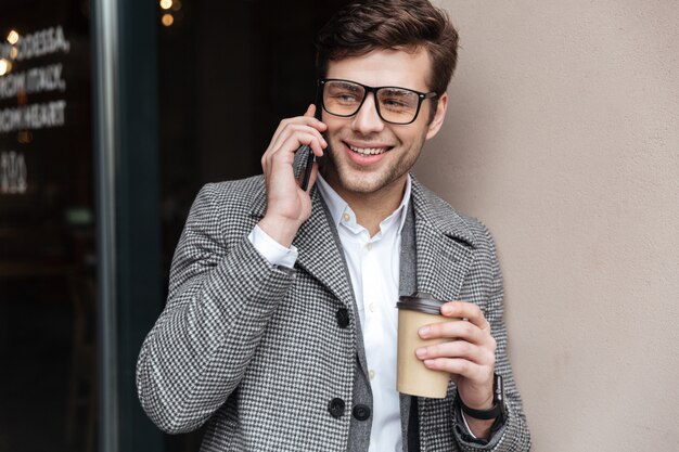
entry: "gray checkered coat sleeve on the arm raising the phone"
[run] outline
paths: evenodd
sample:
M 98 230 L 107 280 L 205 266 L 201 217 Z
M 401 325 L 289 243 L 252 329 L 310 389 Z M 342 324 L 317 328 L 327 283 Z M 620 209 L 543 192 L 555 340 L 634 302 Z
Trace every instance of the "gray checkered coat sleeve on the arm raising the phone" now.
M 227 401 L 294 280 L 247 240 L 236 214 L 247 210 L 218 206 L 216 191 L 203 188 L 191 208 L 166 307 L 137 363 L 141 405 L 171 434 L 198 428 Z

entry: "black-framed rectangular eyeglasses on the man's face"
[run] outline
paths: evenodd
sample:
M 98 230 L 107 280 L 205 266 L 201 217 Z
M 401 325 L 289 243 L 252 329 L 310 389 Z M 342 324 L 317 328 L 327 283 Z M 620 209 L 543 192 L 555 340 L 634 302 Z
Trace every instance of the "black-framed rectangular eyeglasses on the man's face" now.
M 419 92 L 399 87 L 369 87 L 351 80 L 337 78 L 319 79 L 323 95 L 323 109 L 331 115 L 349 117 L 361 109 L 369 92 L 375 96 L 375 109 L 380 118 L 389 124 L 411 124 L 420 113 L 425 99 L 436 98 L 438 93 Z

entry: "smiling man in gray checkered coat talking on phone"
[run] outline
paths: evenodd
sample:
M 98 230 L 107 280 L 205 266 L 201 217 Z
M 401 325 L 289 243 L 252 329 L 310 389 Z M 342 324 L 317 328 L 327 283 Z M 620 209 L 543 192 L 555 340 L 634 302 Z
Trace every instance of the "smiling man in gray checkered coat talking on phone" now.
M 492 241 L 408 172 L 441 127 L 457 41 L 426 0 L 360 1 L 320 31 L 322 120 L 283 120 L 262 176 L 192 207 L 138 364 L 161 428 L 208 423 L 202 451 L 529 449 Z M 325 159 L 308 191 L 304 144 Z M 419 332 L 454 339 L 417 351 L 449 373 L 445 399 L 396 391 L 395 304 L 414 292 L 467 320 Z

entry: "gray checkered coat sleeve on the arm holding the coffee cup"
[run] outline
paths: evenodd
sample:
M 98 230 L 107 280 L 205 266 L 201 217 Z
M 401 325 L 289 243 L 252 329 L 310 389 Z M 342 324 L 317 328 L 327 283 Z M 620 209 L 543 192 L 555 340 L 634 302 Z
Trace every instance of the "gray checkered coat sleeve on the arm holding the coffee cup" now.
M 503 298 L 502 274 L 498 262 L 495 244 L 488 230 L 483 227 L 484 242 L 486 250 L 489 253 L 490 281 L 488 284 L 488 302 L 485 311 L 486 320 L 490 323 L 491 333 L 497 341 L 496 350 L 496 373 L 502 375 L 507 401 L 507 418 L 504 425 L 494 431 L 488 441 L 476 441 L 466 435 L 463 427 L 461 413 L 456 409 L 454 435 L 461 451 L 464 452 L 526 452 L 530 450 L 530 432 L 526 424 L 526 416 L 523 411 L 521 396 L 514 382 L 512 367 L 507 350 L 507 327 L 503 320 Z

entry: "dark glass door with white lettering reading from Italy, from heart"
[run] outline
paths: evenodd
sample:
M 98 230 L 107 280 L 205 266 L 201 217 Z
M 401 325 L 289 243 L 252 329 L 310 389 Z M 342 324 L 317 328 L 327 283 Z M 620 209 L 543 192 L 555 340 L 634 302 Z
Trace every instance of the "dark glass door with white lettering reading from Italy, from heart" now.
M 97 444 L 89 2 L 0 1 L 0 450 Z

